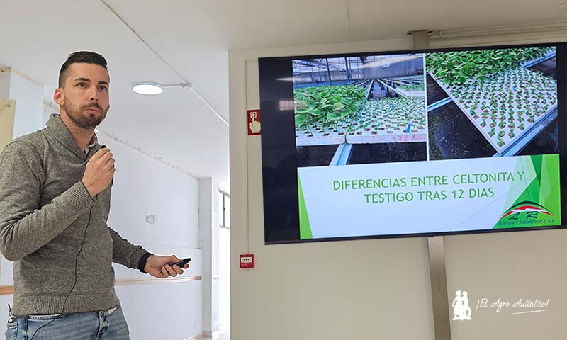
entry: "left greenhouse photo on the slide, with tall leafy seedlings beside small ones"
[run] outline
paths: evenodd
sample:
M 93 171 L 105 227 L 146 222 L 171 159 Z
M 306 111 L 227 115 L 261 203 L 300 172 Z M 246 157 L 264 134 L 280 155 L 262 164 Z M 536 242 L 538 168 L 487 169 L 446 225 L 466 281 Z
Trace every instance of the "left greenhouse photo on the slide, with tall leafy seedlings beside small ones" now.
M 424 57 L 293 60 L 298 166 L 427 160 Z

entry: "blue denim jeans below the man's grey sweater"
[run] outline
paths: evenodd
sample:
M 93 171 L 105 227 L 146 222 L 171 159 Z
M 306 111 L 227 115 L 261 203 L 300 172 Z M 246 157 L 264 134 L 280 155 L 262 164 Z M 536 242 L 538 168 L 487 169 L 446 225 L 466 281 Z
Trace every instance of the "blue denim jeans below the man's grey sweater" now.
M 6 329 L 6 340 L 31 340 L 32 336 L 33 340 L 130 339 L 128 325 L 120 306 L 116 310 L 70 313 L 57 316 L 58 314 L 11 317 L 8 320 L 8 329 Z M 48 325 L 39 329 L 46 324 Z

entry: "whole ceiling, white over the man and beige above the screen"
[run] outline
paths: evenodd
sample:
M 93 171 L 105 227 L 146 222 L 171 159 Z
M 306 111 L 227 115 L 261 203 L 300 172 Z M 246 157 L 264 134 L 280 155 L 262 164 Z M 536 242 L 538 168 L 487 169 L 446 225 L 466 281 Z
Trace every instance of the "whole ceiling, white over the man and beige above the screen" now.
M 107 0 L 228 119 L 228 51 L 403 38 L 409 30 L 563 23 L 563 0 Z M 45 85 L 69 53 L 108 60 L 111 111 L 101 129 L 196 176 L 228 183 L 228 126 L 189 89 L 139 96 L 137 81 L 180 80 L 101 0 L 4 1 L 0 65 Z

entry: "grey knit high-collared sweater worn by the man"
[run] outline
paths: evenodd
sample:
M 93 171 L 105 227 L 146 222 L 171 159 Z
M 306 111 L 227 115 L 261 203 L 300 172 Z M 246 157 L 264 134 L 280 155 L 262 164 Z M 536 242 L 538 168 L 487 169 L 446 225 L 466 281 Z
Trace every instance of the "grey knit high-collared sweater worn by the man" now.
M 14 261 L 14 315 L 103 310 L 118 305 L 112 262 L 137 268 L 146 254 L 106 225 L 111 186 L 91 198 L 85 154 L 60 115 L 13 140 L 0 155 L 0 251 Z M 90 218 L 89 218 L 90 217 Z M 87 228 L 88 225 L 88 228 Z

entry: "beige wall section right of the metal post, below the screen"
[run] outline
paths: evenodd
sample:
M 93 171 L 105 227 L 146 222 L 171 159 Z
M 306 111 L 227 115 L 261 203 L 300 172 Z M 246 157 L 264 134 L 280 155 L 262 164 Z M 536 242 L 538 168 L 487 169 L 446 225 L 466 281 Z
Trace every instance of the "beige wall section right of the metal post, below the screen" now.
M 567 232 L 505 232 L 445 237 L 449 304 L 466 290 L 472 321 L 451 321 L 452 340 L 565 339 Z M 489 307 L 476 306 L 488 298 Z M 492 304 L 549 299 L 547 308 Z M 530 310 L 545 312 L 521 313 Z M 450 314 L 451 317 L 453 314 Z

